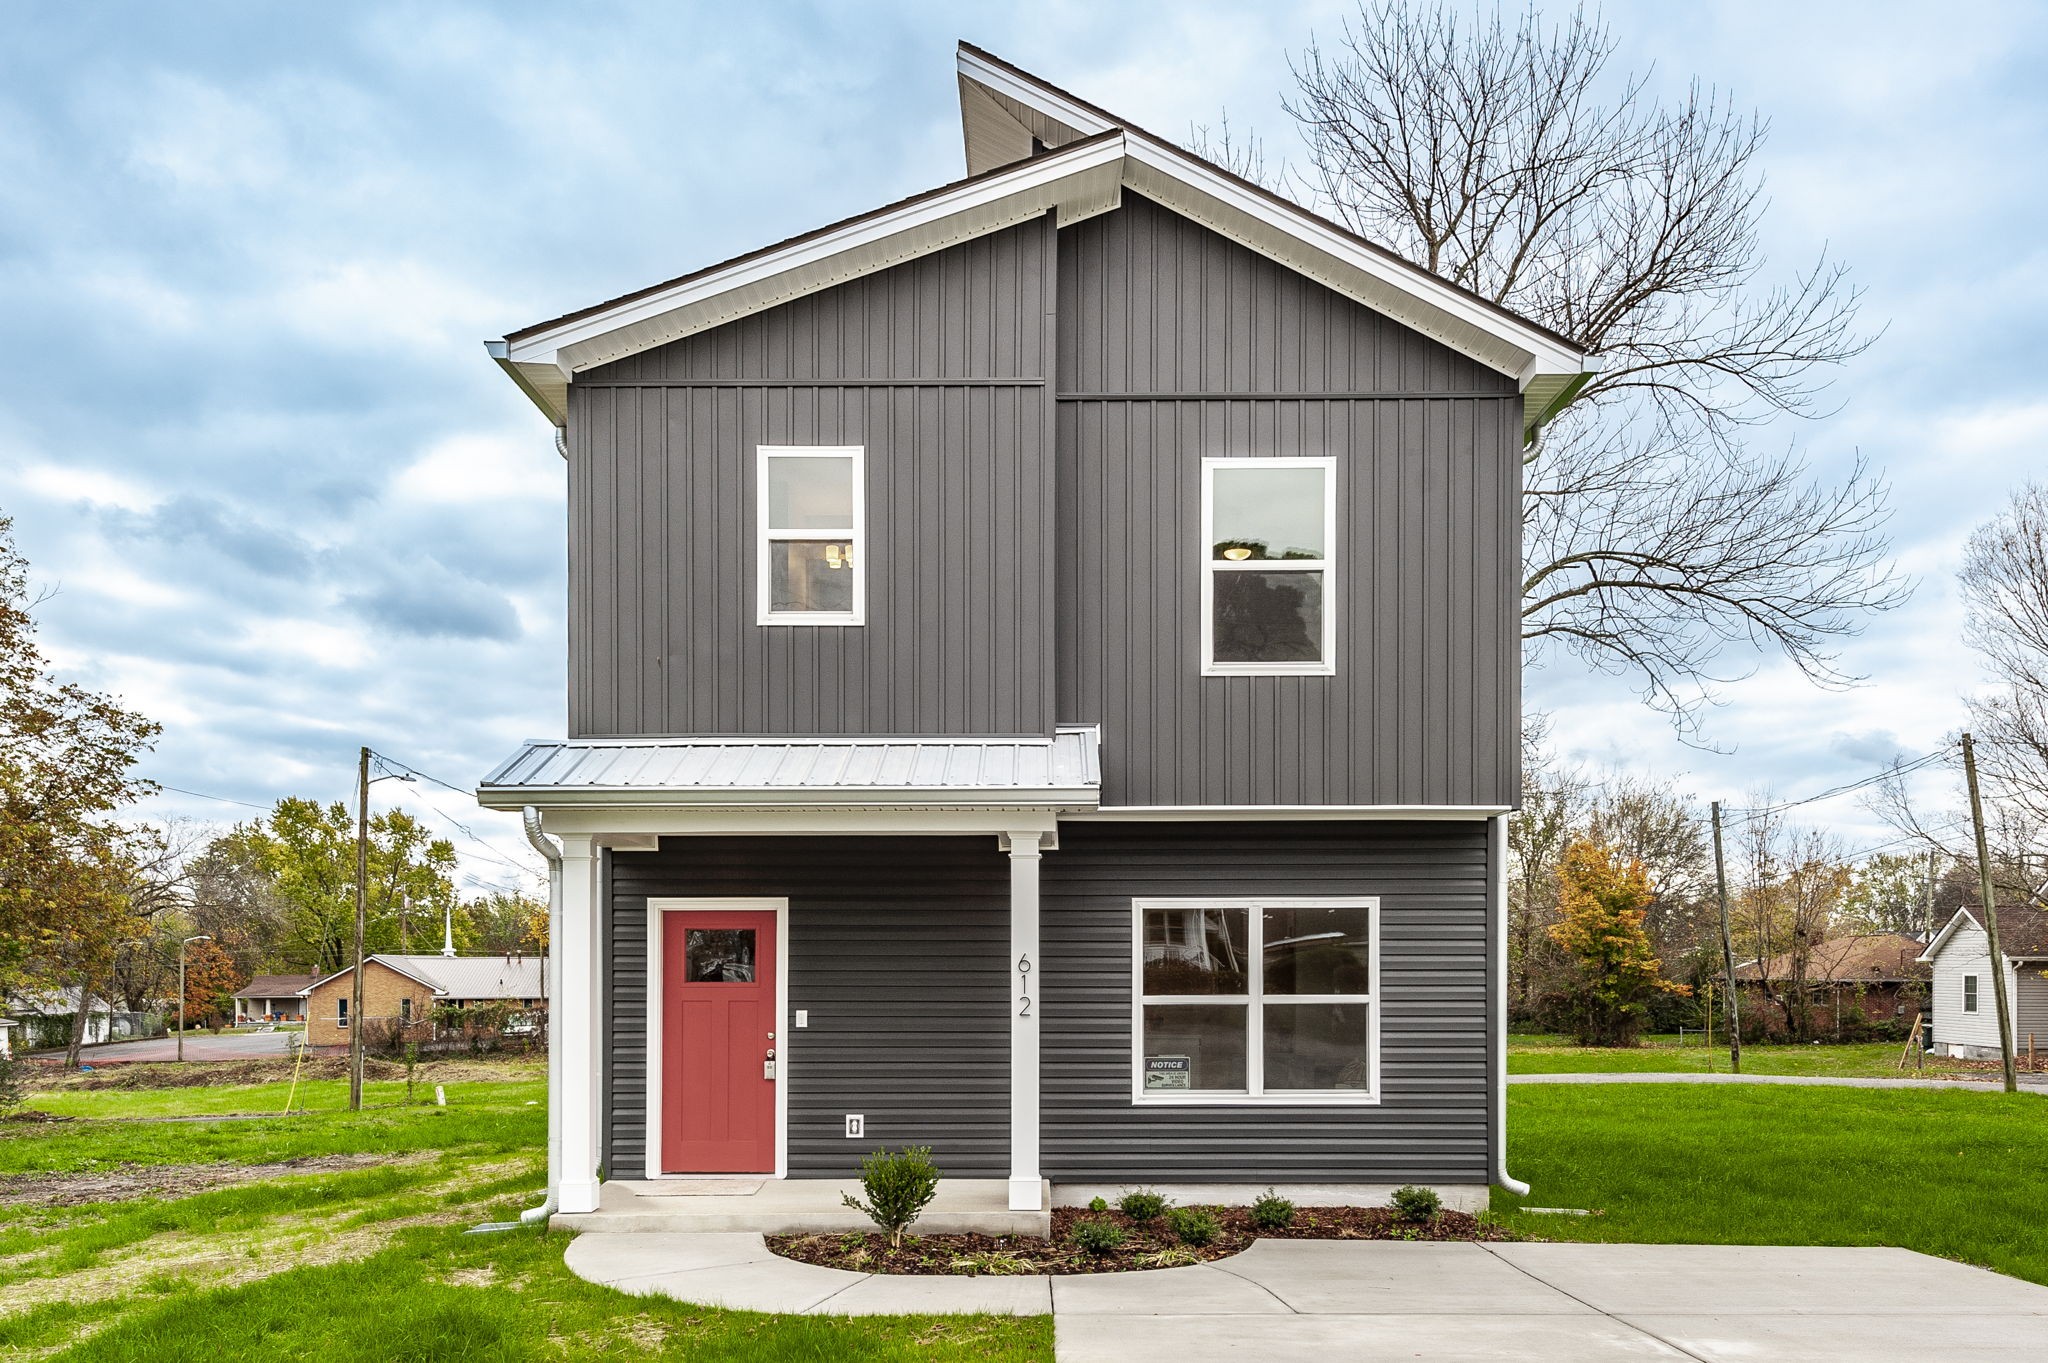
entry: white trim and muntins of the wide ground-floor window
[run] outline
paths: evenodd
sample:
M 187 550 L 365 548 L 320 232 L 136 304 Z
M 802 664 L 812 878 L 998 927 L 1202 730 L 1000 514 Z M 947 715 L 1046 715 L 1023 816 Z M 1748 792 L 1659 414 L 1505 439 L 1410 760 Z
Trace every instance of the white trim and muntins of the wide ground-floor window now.
M 1245 995 L 1147 995 L 1145 993 L 1145 911 L 1147 909 L 1243 909 L 1249 921 L 1249 968 Z M 1266 1044 L 1260 1021 L 1266 1009 L 1262 948 L 1266 909 L 1364 909 L 1368 933 L 1366 1003 L 1366 1089 L 1286 1089 L 1266 1093 Z M 1278 995 L 1288 1003 L 1360 1003 L 1358 995 Z M 1245 1093 L 1145 1093 L 1145 1005 L 1227 1003 L 1245 1007 Z M 1286 1007 L 1286 1005 L 1280 1005 Z M 1380 900 L 1376 894 L 1346 896 L 1233 896 L 1233 898 L 1135 898 L 1130 900 L 1130 1105 L 1133 1107 L 1376 1107 L 1380 1101 Z

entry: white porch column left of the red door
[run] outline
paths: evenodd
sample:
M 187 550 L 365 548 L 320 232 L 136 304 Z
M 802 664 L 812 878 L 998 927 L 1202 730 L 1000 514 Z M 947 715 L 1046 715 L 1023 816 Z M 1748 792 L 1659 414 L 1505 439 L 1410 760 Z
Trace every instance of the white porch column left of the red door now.
M 561 839 L 561 1212 L 598 1210 L 598 847 L 588 835 Z

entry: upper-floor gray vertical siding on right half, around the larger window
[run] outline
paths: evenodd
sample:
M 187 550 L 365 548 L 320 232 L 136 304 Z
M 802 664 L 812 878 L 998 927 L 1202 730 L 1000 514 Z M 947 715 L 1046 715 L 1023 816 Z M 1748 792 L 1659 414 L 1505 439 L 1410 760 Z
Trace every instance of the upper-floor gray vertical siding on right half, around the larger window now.
M 1057 688 L 1104 804 L 1518 800 L 1516 383 L 1124 194 L 1059 237 Z M 1337 458 L 1337 671 L 1204 677 L 1200 460 Z

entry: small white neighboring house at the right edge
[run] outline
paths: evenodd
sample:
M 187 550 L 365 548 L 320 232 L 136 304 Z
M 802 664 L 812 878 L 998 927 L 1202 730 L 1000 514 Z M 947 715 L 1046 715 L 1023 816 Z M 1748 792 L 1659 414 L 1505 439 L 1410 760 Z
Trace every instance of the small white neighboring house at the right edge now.
M 1999 909 L 2001 968 L 2013 1005 L 2013 1046 L 2025 1054 L 2028 1038 L 2048 1050 L 2048 911 L 2032 905 Z M 1933 1050 L 1937 1056 L 1995 1060 L 1999 1056 L 1999 1005 L 1991 984 L 1991 941 L 1974 909 L 1935 933 L 1921 952 L 1933 966 Z

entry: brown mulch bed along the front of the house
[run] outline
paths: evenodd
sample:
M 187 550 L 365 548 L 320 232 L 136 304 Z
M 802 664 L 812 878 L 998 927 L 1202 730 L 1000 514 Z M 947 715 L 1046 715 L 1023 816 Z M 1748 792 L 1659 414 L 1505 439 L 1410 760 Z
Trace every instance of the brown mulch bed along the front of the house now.
M 1260 1230 L 1249 1207 L 1210 1207 L 1223 1234 L 1210 1244 L 1180 1244 L 1165 1220 L 1135 1222 L 1122 1212 L 1053 1210 L 1053 1238 L 1032 1236 L 903 1236 L 889 1248 L 881 1232 L 836 1236 L 768 1236 L 768 1248 L 784 1259 L 856 1273 L 958 1273 L 967 1277 L 1006 1273 L 1128 1273 L 1133 1269 L 1180 1269 L 1210 1259 L 1229 1259 L 1253 1240 L 1518 1240 L 1511 1230 L 1481 1222 L 1464 1212 L 1442 1212 L 1430 1222 L 1403 1222 L 1386 1207 L 1296 1207 L 1294 1224 Z M 1126 1240 L 1106 1255 L 1090 1255 L 1073 1242 L 1079 1222 L 1110 1222 Z

